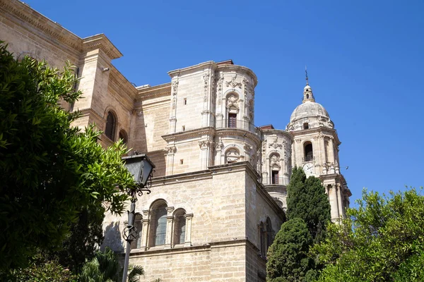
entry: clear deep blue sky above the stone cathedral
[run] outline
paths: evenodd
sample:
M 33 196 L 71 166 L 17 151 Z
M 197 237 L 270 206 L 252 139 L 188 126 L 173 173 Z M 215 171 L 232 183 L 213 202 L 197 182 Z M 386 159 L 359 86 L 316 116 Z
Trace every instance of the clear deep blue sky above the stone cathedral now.
M 424 185 L 424 1 L 26 0 L 80 37 L 105 33 L 136 85 L 232 59 L 257 74 L 255 124 L 285 129 L 305 65 L 336 125 L 353 200 Z

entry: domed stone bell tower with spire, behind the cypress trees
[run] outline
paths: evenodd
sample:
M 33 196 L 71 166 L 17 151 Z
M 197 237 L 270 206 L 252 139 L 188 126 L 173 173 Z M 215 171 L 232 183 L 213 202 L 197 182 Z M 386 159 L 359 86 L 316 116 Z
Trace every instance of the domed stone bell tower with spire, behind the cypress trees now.
M 322 180 L 331 205 L 331 220 L 338 221 L 345 216 L 351 196 L 339 166 L 341 142 L 328 112 L 315 102 L 307 73 L 302 104 L 290 116 L 287 130 L 293 137 L 292 166 L 302 167 L 307 177 Z

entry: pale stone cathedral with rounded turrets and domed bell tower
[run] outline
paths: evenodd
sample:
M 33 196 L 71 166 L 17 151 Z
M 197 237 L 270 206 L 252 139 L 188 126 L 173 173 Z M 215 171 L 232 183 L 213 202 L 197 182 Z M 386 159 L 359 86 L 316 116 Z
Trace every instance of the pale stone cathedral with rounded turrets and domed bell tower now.
M 308 81 L 283 130 L 254 125 L 257 76 L 232 60 L 182 67 L 165 84 L 137 87 L 113 66 L 122 54 L 105 35 L 78 37 L 16 0 L 0 0 L 0 39 L 18 58 L 58 68 L 71 61 L 83 98 L 63 106 L 81 111 L 75 125 L 95 123 L 103 146 L 122 139 L 155 164 L 152 192 L 136 202 L 131 243 L 141 281 L 265 281 L 294 167 L 322 180 L 332 221 L 344 216 L 351 192 L 339 168 L 341 142 Z M 112 214 L 104 221 L 104 246 L 120 254 L 126 221 Z

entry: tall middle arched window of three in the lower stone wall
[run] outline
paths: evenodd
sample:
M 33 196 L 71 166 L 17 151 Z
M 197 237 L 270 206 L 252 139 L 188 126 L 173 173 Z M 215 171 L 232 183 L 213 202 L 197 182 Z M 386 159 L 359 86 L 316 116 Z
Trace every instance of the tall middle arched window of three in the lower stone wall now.
M 150 246 L 165 245 L 166 237 L 166 203 L 163 200 L 156 201 L 151 208 L 151 235 Z

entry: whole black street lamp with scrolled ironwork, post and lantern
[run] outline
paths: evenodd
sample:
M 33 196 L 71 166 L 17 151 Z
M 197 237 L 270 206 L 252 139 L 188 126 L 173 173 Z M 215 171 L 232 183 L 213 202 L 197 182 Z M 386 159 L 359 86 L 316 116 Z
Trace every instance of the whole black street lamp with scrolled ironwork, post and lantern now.
M 122 231 L 122 237 L 124 237 L 124 240 L 126 240 L 124 274 L 122 275 L 122 282 L 126 282 L 131 242 L 137 237 L 137 229 L 134 226 L 137 195 L 141 196 L 143 195 L 143 192 L 150 194 L 151 190 L 148 189 L 146 184 L 153 175 L 153 168 L 155 168 L 155 165 L 150 159 L 148 159 L 146 154 L 134 154 L 133 156 L 123 157 L 122 159 L 125 161 L 126 168 L 134 176 L 134 180 L 136 181 L 136 187 L 127 191 L 131 196 L 131 207 L 128 212 L 128 224 L 125 226 L 124 231 Z

